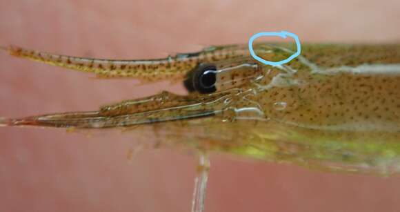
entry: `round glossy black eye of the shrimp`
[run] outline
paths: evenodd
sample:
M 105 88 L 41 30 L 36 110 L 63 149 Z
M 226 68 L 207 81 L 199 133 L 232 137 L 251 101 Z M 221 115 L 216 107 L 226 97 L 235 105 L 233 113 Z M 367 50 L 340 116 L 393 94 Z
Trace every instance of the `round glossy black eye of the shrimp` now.
M 196 90 L 199 93 L 213 93 L 217 90 L 217 68 L 211 64 L 200 64 L 189 74 L 184 82 L 189 91 Z

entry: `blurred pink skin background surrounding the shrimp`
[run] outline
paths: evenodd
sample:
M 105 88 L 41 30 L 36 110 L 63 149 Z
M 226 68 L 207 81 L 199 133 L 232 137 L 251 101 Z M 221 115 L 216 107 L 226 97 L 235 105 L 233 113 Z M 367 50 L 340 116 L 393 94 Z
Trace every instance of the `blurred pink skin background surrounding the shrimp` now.
M 149 59 L 255 32 L 301 41 L 399 42 L 400 1 L 0 1 L 0 45 Z M 0 53 L 0 116 L 95 110 L 170 90 L 99 80 Z M 146 150 L 134 133 L 0 128 L 0 211 L 190 211 L 197 158 Z M 150 141 L 149 141 L 150 142 Z M 212 153 L 206 211 L 399 211 L 400 177 L 310 171 Z

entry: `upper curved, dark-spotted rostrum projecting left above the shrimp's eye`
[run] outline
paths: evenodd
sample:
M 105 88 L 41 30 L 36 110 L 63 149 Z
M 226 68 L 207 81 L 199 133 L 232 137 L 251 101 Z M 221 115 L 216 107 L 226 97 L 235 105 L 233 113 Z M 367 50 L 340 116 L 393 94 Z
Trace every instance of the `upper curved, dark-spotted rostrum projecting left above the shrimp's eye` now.
M 52 66 L 61 66 L 88 73 L 94 73 L 101 78 L 105 77 L 131 77 L 141 81 L 160 81 L 168 79 L 179 81 L 188 71 L 198 64 L 240 54 L 233 49 L 203 50 L 201 52 L 178 54 L 174 57 L 163 59 L 93 59 L 87 57 L 72 57 L 55 55 L 38 50 L 28 50 L 17 46 L 1 47 L 10 55 L 39 61 Z

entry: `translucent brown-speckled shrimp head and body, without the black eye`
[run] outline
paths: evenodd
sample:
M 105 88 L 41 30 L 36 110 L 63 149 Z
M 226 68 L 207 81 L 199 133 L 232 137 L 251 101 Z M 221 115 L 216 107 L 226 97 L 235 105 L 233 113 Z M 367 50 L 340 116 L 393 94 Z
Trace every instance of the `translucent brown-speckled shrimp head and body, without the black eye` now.
M 291 44 L 257 44 L 257 55 L 285 59 Z M 3 119 L 5 126 L 130 128 L 159 144 L 223 151 L 331 171 L 400 171 L 400 46 L 303 45 L 283 66 L 257 63 L 243 46 L 148 61 L 109 61 L 8 48 L 11 55 L 143 81 L 183 81 L 216 64 L 217 91 L 160 93 L 99 110 Z M 248 70 L 236 68 L 249 64 Z M 136 128 L 135 128 L 136 129 Z M 134 133 L 135 131 L 132 130 Z M 139 132 L 138 132 L 139 133 Z

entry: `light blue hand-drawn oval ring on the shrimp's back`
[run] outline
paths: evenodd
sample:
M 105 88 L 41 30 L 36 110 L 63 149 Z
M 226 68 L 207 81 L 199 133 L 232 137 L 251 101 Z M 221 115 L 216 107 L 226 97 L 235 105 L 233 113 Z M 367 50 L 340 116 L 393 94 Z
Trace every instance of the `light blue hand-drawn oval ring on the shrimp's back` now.
M 268 60 L 262 59 L 261 57 L 257 56 L 254 53 L 253 41 L 255 39 L 257 39 L 259 37 L 263 37 L 263 36 L 277 36 L 277 37 L 281 37 L 281 38 L 286 38 L 288 36 L 292 37 L 292 38 L 294 38 L 294 41 L 296 41 L 297 52 L 295 52 L 293 55 L 291 55 L 287 59 L 283 59 L 283 60 L 277 61 L 277 62 L 268 61 Z M 301 44 L 300 44 L 300 41 L 299 41 L 299 37 L 297 37 L 297 35 L 294 35 L 291 32 L 286 32 L 286 31 L 281 31 L 281 32 L 259 32 L 259 33 L 255 34 L 255 35 L 253 35 L 252 37 L 250 37 L 250 40 L 248 41 L 248 49 L 250 50 L 250 55 L 252 55 L 252 57 L 254 59 L 257 59 L 261 63 L 266 64 L 266 65 L 270 65 L 270 66 L 279 66 L 279 65 L 282 65 L 282 64 L 286 64 L 289 61 L 291 61 L 292 59 L 294 59 L 297 56 L 299 56 L 300 53 L 301 53 Z

